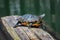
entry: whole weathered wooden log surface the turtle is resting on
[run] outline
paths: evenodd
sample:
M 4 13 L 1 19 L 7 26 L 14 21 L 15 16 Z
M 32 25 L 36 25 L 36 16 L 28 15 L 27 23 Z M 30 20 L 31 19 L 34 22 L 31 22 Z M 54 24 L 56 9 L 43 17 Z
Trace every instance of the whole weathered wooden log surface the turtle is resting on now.
M 17 23 L 16 18 L 18 18 L 18 16 L 7 16 L 1 18 L 5 30 L 7 30 L 13 40 L 55 40 L 49 33 L 41 28 L 28 28 L 22 26 L 13 28 Z

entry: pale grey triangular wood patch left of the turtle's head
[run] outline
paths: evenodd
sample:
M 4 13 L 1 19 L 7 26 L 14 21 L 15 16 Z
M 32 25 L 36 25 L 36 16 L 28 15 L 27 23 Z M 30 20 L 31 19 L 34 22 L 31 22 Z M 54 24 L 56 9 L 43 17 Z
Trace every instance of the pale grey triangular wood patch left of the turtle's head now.
M 16 20 L 17 16 L 6 16 L 3 19 L 8 23 L 9 26 L 13 27 L 18 21 Z

